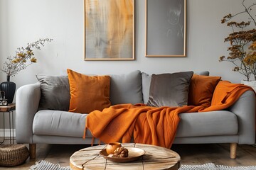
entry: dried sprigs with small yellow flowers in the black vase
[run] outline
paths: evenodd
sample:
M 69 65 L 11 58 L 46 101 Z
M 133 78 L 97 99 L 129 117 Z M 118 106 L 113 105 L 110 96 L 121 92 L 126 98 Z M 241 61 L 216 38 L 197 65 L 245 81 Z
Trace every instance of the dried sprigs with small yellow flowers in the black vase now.
M 43 47 L 46 42 L 50 42 L 53 39 L 45 38 L 39 39 L 36 42 L 28 43 L 26 47 L 18 47 L 16 54 L 14 56 L 7 57 L 7 62 L 4 62 L 2 72 L 5 72 L 7 76 L 15 76 L 23 69 L 26 69 L 29 65 L 37 62 L 36 57 L 33 53 L 33 48 L 37 50 L 41 50 L 41 46 Z M 27 64 L 28 60 L 30 61 Z

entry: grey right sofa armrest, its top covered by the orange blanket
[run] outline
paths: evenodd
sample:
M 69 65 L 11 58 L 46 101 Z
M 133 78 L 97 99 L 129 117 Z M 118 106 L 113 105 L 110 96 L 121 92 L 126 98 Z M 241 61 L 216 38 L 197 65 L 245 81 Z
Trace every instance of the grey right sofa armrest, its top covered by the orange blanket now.
M 255 143 L 255 94 L 245 91 L 233 106 L 228 108 L 238 117 L 239 144 Z

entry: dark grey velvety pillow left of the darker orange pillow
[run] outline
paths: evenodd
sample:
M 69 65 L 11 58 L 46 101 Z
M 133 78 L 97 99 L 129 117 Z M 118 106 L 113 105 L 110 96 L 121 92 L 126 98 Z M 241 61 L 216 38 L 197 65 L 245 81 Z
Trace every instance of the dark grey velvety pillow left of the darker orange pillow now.
M 172 74 L 152 74 L 147 106 L 186 106 L 188 105 L 189 83 L 193 72 Z

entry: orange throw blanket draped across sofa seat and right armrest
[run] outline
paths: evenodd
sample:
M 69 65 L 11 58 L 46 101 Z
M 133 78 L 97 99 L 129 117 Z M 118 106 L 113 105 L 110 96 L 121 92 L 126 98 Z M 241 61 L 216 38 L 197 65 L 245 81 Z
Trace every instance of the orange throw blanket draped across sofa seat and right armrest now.
M 249 86 L 220 81 L 215 88 L 211 106 L 150 107 L 144 104 L 122 104 L 101 111 L 92 111 L 86 118 L 85 132 L 102 142 L 130 142 L 171 148 L 180 118 L 179 113 L 220 111 L 231 106 Z M 85 134 L 84 134 L 85 138 Z

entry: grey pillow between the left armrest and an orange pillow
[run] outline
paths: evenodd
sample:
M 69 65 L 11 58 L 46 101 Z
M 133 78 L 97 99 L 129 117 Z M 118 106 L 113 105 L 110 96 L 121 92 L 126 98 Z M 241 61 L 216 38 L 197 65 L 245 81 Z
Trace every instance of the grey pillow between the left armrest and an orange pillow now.
M 41 98 L 38 109 L 68 111 L 70 103 L 68 76 L 37 74 L 36 78 L 41 82 Z

